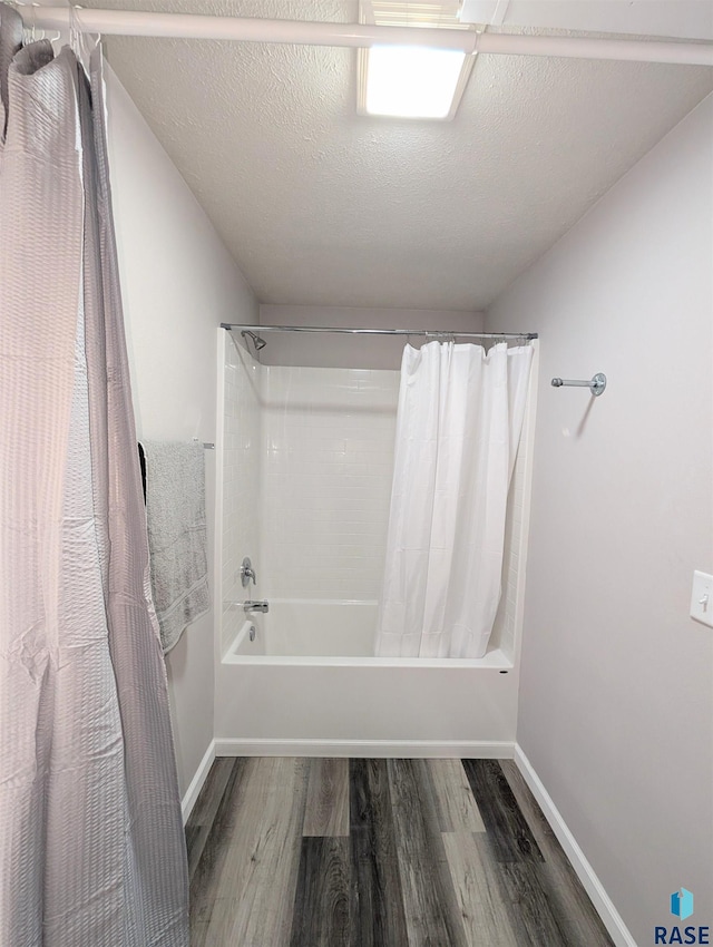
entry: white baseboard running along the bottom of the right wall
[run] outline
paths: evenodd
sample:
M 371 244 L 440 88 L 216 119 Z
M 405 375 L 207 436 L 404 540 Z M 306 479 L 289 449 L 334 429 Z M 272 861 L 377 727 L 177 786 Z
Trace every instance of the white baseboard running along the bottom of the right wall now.
M 577 872 L 577 877 L 582 881 L 585 891 L 592 899 L 592 904 L 602 918 L 604 926 L 608 930 L 609 937 L 614 940 L 616 947 L 636 947 L 636 941 L 622 920 L 622 916 L 614 907 L 612 899 L 597 878 L 594 868 L 587 861 L 585 853 L 577 845 L 577 840 L 569 831 L 567 823 L 553 802 L 550 794 L 545 789 L 541 780 L 533 769 L 533 764 L 527 759 L 518 743 L 515 744 L 514 759 L 518 770 L 522 774 L 522 779 L 528 784 L 530 792 L 539 804 L 539 808 L 545 813 L 545 817 L 557 837 L 559 845 L 565 850 L 565 855 L 572 862 L 572 867 Z

